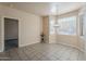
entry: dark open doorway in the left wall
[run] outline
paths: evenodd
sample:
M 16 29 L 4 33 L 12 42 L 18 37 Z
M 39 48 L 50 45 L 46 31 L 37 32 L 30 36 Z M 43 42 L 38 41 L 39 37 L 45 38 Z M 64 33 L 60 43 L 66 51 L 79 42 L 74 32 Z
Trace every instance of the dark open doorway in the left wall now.
M 4 17 L 4 51 L 19 47 L 19 20 Z

